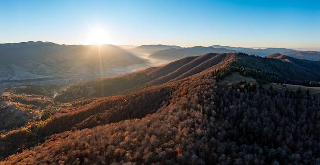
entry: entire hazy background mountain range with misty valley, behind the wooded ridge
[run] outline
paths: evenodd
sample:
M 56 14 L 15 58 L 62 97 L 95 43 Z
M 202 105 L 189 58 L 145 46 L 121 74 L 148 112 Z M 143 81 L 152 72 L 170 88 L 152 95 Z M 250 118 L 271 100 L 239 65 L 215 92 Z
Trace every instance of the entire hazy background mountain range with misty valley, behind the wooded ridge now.
M 244 52 L 261 57 L 282 53 L 298 59 L 320 60 L 320 53 L 317 51 L 286 48 L 252 49 L 219 45 L 182 48 L 174 45 L 142 45 L 123 49 L 115 45 L 59 45 L 29 41 L 0 44 L 0 87 L 57 83 L 67 86 L 79 80 L 129 73 L 209 52 Z M 156 61 L 151 63 L 152 60 Z M 159 63 L 160 61 L 162 63 Z

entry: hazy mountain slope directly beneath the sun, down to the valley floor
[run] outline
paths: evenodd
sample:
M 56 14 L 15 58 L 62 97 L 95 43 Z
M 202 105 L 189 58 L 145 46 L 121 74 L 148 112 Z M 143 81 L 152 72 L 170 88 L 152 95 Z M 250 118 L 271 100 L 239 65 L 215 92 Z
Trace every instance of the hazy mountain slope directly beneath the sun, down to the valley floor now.
M 146 59 L 114 45 L 59 45 L 41 41 L 0 44 L 0 58 L 0 80 L 6 82 L 1 87 L 28 80 L 37 85 L 69 84 L 127 73 L 130 66 L 148 65 Z

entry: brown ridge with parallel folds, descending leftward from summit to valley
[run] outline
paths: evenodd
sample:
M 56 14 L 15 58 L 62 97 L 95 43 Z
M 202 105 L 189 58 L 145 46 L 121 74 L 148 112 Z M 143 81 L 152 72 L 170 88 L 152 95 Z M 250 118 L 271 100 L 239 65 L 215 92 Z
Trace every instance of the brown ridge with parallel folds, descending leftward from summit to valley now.
M 187 57 L 162 67 L 149 68 L 109 78 L 88 81 L 83 85 L 67 87 L 57 92 L 55 101 L 68 101 L 83 97 L 104 97 L 127 94 L 143 87 L 159 85 L 170 80 L 178 80 L 204 69 L 218 69 L 226 66 L 225 61 L 233 61 L 235 53 L 207 53 L 203 56 Z M 220 63 L 222 62 L 222 63 Z M 223 64 L 223 65 L 221 65 Z

